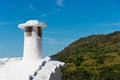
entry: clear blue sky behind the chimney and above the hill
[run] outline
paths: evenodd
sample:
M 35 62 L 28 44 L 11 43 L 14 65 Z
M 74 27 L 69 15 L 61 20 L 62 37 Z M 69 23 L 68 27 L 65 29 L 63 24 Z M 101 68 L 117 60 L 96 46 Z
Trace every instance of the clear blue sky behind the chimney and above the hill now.
M 37 19 L 43 29 L 43 56 L 92 34 L 120 30 L 120 0 L 1 0 L 0 57 L 21 57 L 23 30 L 17 26 Z

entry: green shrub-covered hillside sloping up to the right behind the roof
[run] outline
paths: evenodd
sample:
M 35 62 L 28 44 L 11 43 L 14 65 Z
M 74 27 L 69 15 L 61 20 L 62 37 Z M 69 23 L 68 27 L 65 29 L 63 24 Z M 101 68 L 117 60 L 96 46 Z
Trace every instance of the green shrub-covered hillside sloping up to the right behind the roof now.
M 52 57 L 67 65 L 62 80 L 120 80 L 120 31 L 80 38 Z

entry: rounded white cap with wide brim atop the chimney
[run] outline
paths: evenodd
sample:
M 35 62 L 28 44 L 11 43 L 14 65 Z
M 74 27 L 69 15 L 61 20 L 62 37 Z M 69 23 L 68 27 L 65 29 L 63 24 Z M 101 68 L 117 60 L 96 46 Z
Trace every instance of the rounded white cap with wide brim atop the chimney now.
M 39 22 L 38 20 L 28 20 L 26 23 L 19 24 L 18 27 L 24 29 L 25 27 L 46 27 L 47 24 Z

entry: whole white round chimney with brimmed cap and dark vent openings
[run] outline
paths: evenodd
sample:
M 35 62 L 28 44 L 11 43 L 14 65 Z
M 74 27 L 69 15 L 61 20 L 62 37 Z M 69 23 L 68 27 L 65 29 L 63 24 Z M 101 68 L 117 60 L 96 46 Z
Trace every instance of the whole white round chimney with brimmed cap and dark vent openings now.
M 42 59 L 42 28 L 47 24 L 37 20 L 29 20 L 19 24 L 24 29 L 24 53 L 23 60 L 38 61 Z

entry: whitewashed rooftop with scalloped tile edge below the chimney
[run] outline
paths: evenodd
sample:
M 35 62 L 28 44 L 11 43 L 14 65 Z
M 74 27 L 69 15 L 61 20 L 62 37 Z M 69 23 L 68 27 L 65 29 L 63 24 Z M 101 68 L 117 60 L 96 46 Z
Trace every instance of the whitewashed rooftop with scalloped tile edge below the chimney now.
M 34 63 L 22 58 L 0 58 L 0 80 L 60 80 L 56 69 L 63 66 L 63 62 L 50 57 Z M 53 74 L 55 79 L 50 79 Z

